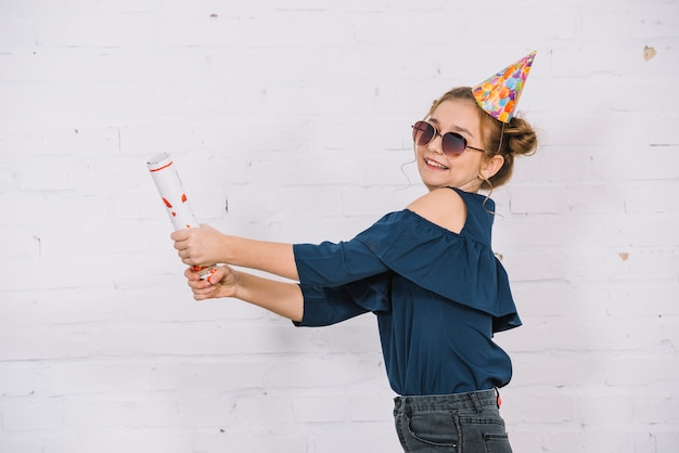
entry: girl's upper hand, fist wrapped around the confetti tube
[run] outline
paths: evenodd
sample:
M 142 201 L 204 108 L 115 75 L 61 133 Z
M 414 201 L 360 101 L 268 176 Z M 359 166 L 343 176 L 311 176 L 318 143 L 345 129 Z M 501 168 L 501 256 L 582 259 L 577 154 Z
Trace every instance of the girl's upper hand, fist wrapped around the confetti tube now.
M 206 268 L 223 262 L 218 253 L 223 234 L 208 224 L 201 223 L 201 228 L 178 230 L 170 237 L 175 241 L 175 248 L 184 264 Z

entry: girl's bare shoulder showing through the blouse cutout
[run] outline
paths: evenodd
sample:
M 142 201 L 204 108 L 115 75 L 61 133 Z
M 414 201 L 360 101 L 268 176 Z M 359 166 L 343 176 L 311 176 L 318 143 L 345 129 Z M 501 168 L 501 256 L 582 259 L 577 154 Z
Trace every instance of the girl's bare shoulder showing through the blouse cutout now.
M 466 221 L 464 200 L 448 187 L 433 190 L 408 205 L 408 209 L 453 233 L 460 233 Z

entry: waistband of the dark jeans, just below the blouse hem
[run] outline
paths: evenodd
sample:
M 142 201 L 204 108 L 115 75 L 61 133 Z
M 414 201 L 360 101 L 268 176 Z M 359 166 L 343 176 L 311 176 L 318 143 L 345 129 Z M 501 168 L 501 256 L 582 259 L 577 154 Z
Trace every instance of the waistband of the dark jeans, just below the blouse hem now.
M 412 397 L 396 397 L 394 399 L 395 409 L 407 411 L 431 411 L 431 410 L 464 410 L 473 409 L 479 411 L 482 407 L 499 406 L 498 393 L 496 390 L 478 390 L 469 393 L 453 394 L 425 394 Z

